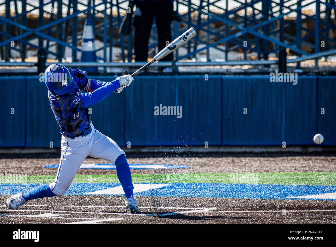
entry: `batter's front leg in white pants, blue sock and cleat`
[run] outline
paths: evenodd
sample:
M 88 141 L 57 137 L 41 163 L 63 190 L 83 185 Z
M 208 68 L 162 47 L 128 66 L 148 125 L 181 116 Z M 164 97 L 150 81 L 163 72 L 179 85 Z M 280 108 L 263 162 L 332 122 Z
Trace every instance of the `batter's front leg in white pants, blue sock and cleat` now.
M 133 198 L 133 183 L 125 152 L 110 137 L 94 130 L 92 149 L 89 156 L 108 160 L 116 165 L 117 176 L 126 196 L 126 210 L 138 212 L 137 201 Z

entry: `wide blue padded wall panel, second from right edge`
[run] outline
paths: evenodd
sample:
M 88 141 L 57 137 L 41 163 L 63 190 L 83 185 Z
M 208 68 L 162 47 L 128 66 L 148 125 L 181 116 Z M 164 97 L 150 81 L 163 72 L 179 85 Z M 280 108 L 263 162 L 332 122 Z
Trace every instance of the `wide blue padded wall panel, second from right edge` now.
M 298 83 L 269 76 L 222 77 L 222 145 L 313 144 L 316 77 Z M 247 114 L 243 109 L 247 108 Z

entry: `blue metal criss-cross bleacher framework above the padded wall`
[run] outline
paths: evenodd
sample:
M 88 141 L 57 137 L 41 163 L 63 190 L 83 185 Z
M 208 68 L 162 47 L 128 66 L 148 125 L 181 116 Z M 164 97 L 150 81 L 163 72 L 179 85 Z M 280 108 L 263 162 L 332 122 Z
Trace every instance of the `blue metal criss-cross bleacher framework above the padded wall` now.
M 128 36 L 117 33 L 127 3 L 126 0 L 88 0 L 85 3 L 77 0 L 0 0 L 0 9 L 4 9 L 4 16 L 0 16 L 1 57 L 8 62 L 13 50 L 19 52 L 24 61 L 27 47 L 43 47 L 48 58 L 59 61 L 70 49 L 72 60 L 77 62 L 83 23 L 85 18 L 90 18 L 94 23 L 95 38 L 101 44 L 96 47 L 100 54 L 98 60 L 105 62 L 97 66 L 124 66 L 107 61 L 113 61 L 115 49 L 119 50 L 117 55 L 124 63 L 133 55 L 133 33 Z M 63 12 L 57 11 L 58 6 Z M 172 22 L 172 36 L 178 36 L 189 27 L 194 27 L 198 35 L 184 46 L 183 54 L 175 52 L 175 60 L 203 56 L 207 62 L 214 63 L 214 50 L 225 61 L 206 65 L 268 65 L 276 63 L 268 61 L 270 54 L 277 56 L 280 49 L 286 48 L 298 56 L 292 62 L 297 62 L 297 67 L 300 67 L 301 56 L 314 54 L 318 58 L 321 52 L 336 48 L 335 8 L 335 0 L 177 0 L 175 9 L 181 19 Z M 38 14 L 38 27 L 31 28 L 27 24 L 27 15 L 35 12 Z M 149 53 L 153 54 L 157 47 L 155 30 L 153 24 L 154 32 L 148 47 Z M 38 44 L 35 39 L 38 39 Z M 241 53 L 244 61 L 230 61 L 230 52 Z M 248 60 L 252 52 L 256 60 Z M 201 65 L 205 64 L 193 64 Z M 176 66 L 189 64 L 176 62 Z

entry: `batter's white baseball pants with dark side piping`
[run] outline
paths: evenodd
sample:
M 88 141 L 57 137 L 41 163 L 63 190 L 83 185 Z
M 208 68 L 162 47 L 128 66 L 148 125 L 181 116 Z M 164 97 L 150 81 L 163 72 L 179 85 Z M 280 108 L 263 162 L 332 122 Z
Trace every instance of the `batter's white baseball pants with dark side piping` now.
M 94 129 L 92 122 L 90 125 L 92 132 L 87 136 L 75 139 L 62 136 L 61 160 L 57 175 L 55 181 L 49 184 L 50 190 L 56 196 L 62 196 L 67 192 L 87 156 L 115 163 L 121 154 L 125 154 L 114 140 Z

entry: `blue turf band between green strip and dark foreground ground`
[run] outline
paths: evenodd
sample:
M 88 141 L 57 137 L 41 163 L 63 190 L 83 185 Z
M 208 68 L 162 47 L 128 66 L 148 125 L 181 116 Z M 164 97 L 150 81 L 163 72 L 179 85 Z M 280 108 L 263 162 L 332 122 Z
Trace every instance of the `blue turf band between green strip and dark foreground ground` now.
M 0 184 L 1 195 L 26 192 L 40 184 Z M 89 192 L 119 186 L 120 183 L 73 183 L 65 195 L 85 195 Z M 223 184 L 223 183 L 171 183 L 160 189 L 134 193 L 149 197 L 210 197 L 210 198 L 253 198 L 295 199 L 290 197 L 317 195 L 336 192 L 336 186 L 272 185 L 272 184 Z M 301 199 L 302 200 L 302 199 Z M 303 199 L 307 200 L 307 199 Z M 309 199 L 311 200 L 311 199 Z M 313 199 L 316 200 L 316 199 Z M 327 199 L 336 200 L 336 199 Z

